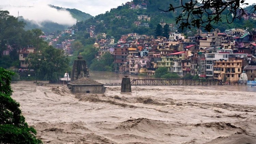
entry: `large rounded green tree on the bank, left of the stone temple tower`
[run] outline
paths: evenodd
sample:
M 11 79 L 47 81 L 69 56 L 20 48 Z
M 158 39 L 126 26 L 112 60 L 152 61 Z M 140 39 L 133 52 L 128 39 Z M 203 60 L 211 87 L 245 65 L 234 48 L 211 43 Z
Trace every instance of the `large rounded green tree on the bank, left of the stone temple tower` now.
M 50 83 L 58 82 L 59 77 L 69 70 L 68 55 L 52 46 L 44 48 L 41 53 L 29 54 L 26 61 L 29 68 L 35 70 L 37 77 L 47 77 Z

